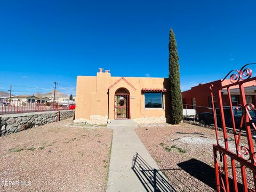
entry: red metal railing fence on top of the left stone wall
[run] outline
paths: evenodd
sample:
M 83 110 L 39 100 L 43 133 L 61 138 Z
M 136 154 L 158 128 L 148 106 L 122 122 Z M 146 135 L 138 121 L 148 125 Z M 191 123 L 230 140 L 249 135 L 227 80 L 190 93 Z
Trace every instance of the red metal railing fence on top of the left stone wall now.
M 58 103 L 0 100 L 0 115 L 67 109 L 69 107 L 59 107 Z

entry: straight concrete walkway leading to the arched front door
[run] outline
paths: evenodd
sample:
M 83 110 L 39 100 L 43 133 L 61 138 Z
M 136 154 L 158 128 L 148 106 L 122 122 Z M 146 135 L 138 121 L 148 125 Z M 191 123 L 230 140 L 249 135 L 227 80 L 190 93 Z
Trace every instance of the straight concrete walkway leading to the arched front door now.
M 108 123 L 108 128 L 114 133 L 107 192 L 156 191 L 157 185 L 167 186 L 157 191 L 174 191 L 162 172 L 157 171 L 159 168 L 154 159 L 134 131 L 136 127 L 137 124 L 130 119 Z M 137 153 L 139 155 L 135 156 Z

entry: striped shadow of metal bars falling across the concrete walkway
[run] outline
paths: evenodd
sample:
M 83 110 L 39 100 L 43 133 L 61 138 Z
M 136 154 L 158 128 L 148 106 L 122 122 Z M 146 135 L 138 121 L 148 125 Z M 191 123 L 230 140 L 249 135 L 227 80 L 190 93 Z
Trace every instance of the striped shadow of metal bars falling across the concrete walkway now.
M 161 173 L 163 170 L 153 169 L 138 153 L 133 156 L 132 170 L 147 191 L 176 191 Z

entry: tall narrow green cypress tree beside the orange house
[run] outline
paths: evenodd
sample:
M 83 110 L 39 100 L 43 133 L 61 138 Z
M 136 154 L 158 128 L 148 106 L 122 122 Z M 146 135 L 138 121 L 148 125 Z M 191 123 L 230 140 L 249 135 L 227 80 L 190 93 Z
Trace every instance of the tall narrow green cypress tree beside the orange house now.
M 177 43 L 173 30 L 169 34 L 169 82 L 170 82 L 170 122 L 180 123 L 183 119 L 180 91 L 180 66 Z

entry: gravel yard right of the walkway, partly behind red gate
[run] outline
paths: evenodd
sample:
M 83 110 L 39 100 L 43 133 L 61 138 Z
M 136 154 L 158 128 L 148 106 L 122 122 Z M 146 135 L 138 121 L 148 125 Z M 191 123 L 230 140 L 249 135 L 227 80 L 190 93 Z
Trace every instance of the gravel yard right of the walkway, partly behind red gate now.
M 181 123 L 141 125 L 135 131 L 175 190 L 215 191 L 212 147 L 216 143 L 215 130 Z M 220 144 L 223 146 L 222 135 L 219 132 Z M 233 134 L 228 134 L 228 140 L 234 143 L 233 138 Z M 245 139 L 242 137 L 241 143 L 246 143 Z M 229 148 L 235 151 L 234 144 L 229 145 Z M 239 165 L 236 164 L 236 167 L 238 181 L 242 182 Z M 230 162 L 228 171 L 232 186 Z M 246 174 L 249 188 L 253 187 L 252 174 Z M 241 189 L 242 185 L 238 183 L 238 187 Z

